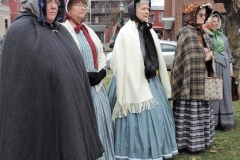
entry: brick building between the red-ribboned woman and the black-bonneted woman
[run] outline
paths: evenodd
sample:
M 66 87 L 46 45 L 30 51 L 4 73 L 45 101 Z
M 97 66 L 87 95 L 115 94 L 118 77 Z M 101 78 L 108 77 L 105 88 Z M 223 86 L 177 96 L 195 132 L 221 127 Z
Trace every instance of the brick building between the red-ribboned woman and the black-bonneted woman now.
M 108 42 L 120 29 L 120 4 L 124 5 L 122 16 L 127 21 L 127 0 L 91 0 L 84 23 L 87 23 L 102 42 Z

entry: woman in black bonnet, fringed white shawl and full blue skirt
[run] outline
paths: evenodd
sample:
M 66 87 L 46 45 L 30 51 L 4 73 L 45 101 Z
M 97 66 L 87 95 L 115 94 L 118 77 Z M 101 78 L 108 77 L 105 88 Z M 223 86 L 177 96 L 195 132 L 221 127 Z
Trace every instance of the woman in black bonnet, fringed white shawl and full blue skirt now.
M 108 94 L 118 159 L 161 160 L 178 153 L 168 72 L 158 37 L 147 22 L 150 6 L 148 0 L 129 4 L 130 20 L 113 49 Z

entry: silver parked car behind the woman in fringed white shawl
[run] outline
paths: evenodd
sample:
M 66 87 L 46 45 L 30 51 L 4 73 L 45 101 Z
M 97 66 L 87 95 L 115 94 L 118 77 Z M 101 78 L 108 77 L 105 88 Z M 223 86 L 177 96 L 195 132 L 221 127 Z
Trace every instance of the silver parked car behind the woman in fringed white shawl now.
M 171 70 L 177 42 L 167 41 L 167 40 L 159 40 L 159 43 L 160 43 L 160 46 L 162 49 L 162 54 L 163 54 L 163 58 L 166 63 L 166 67 L 168 70 Z M 106 54 L 106 62 L 107 62 L 108 69 L 110 69 L 111 58 L 112 58 L 112 52 L 107 53 Z

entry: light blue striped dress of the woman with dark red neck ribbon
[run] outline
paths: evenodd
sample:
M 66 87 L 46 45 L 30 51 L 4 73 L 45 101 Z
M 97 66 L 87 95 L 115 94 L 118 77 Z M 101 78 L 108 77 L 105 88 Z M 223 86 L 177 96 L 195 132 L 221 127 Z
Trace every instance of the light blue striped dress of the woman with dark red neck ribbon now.
M 80 43 L 80 51 L 82 53 L 86 69 L 89 72 L 97 72 L 97 70 L 94 68 L 91 48 L 82 31 L 77 34 L 77 39 Z M 91 86 L 90 89 L 98 123 L 98 133 L 105 150 L 103 156 L 97 160 L 114 160 L 114 136 L 111 120 L 111 109 L 106 90 L 104 87 L 101 87 L 101 89 L 96 92 L 94 86 Z

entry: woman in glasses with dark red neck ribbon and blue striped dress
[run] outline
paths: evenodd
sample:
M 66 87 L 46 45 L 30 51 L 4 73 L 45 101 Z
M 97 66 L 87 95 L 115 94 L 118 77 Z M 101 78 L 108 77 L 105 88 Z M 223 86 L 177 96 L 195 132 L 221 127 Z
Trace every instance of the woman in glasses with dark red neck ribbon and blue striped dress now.
M 103 46 L 96 33 L 83 19 L 87 13 L 88 0 L 67 0 L 66 14 L 63 26 L 72 35 L 83 57 L 90 82 L 91 95 L 93 97 L 94 110 L 98 124 L 98 134 L 105 152 L 98 160 L 114 159 L 113 126 L 111 109 L 102 79 L 106 76 L 106 59 Z M 79 52 L 79 53 L 80 53 Z

